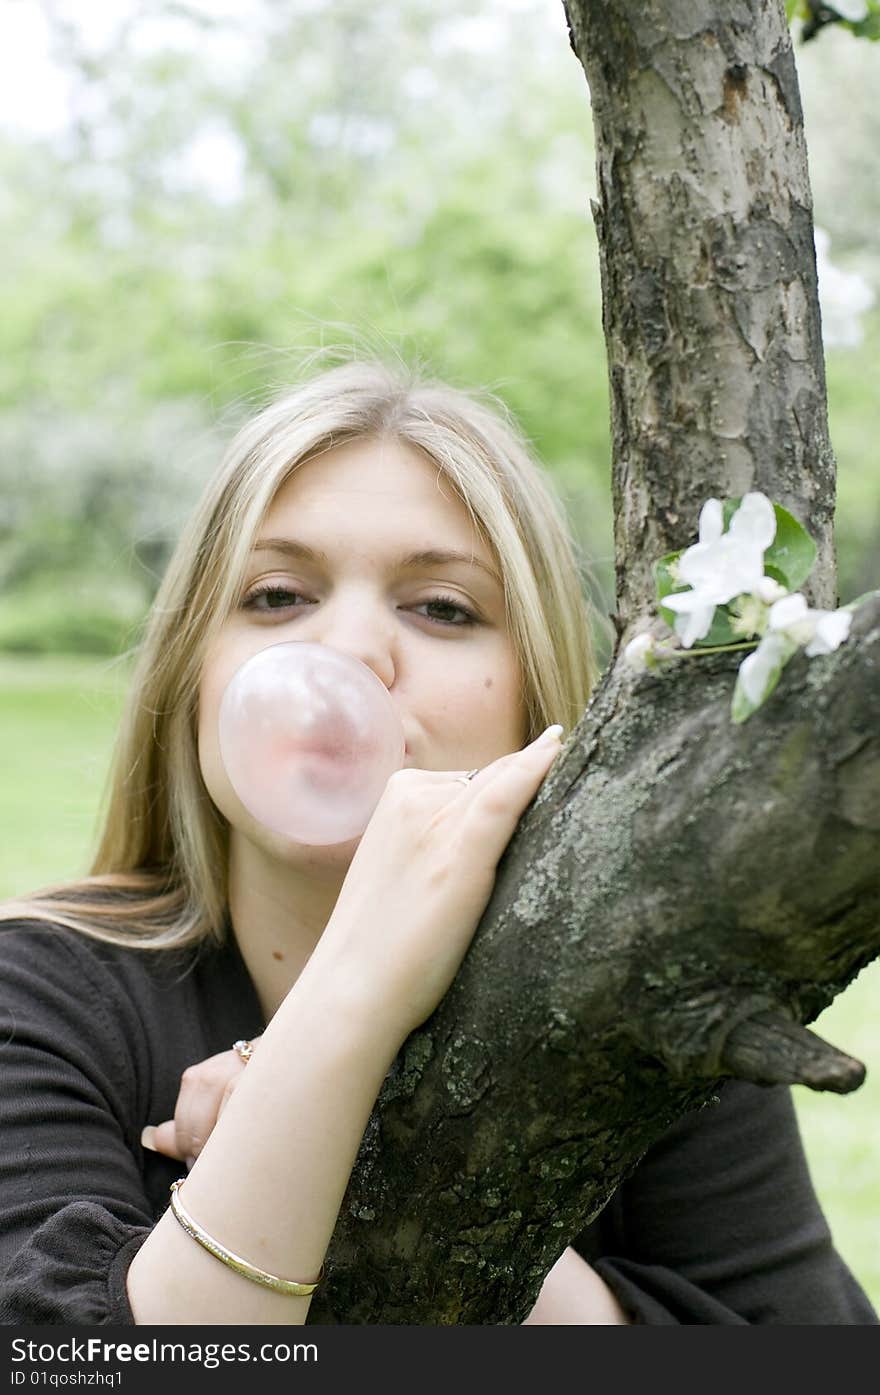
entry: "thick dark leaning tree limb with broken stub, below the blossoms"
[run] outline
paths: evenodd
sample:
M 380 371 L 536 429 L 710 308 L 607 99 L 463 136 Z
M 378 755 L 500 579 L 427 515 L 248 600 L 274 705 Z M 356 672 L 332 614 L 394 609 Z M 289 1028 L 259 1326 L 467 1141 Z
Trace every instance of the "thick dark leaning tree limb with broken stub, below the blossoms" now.
M 607 677 L 385 1083 L 310 1321 L 519 1322 L 724 1076 L 858 1085 L 798 1023 L 880 953 L 879 672 L 873 598 L 742 727 L 722 656 Z

